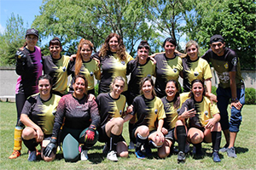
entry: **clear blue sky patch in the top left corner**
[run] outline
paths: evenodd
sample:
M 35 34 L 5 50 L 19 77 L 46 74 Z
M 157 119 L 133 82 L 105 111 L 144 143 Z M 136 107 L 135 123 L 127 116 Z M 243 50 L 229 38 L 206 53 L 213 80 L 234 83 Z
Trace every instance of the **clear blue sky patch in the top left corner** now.
M 24 27 L 31 27 L 35 16 L 39 14 L 39 7 L 42 0 L 0 0 L 0 32 L 6 27 L 6 21 L 9 20 L 12 13 L 17 14 L 24 21 Z

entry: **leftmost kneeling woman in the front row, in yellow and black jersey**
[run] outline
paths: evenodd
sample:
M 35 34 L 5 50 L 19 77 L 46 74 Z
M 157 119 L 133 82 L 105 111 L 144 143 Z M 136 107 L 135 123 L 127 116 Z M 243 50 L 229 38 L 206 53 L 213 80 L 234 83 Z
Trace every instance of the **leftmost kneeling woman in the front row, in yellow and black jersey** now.
M 26 126 L 22 132 L 22 139 L 28 148 L 28 161 L 36 161 L 38 151 L 36 147 L 41 144 L 41 152 L 49 143 L 52 133 L 55 111 L 60 96 L 51 94 L 52 80 L 48 75 L 38 78 L 39 94 L 34 94 L 26 100 L 21 111 L 20 121 Z M 55 152 L 45 157 L 44 161 L 53 161 Z

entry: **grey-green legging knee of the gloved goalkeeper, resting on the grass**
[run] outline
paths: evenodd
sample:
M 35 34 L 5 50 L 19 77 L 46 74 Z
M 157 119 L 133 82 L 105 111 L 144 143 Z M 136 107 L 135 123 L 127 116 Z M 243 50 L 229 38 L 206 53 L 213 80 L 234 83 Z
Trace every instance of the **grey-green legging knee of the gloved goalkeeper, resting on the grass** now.
M 65 161 L 79 161 L 79 142 L 68 133 L 62 144 Z

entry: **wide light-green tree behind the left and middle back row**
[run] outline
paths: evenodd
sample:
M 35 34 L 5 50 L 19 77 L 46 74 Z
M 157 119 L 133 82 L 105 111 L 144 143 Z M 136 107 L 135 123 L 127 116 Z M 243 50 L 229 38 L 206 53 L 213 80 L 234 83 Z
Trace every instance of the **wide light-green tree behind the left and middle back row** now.
M 89 39 L 95 52 L 109 33 L 116 32 L 134 54 L 138 41 L 155 37 L 146 22 L 145 4 L 139 0 L 45 0 L 33 26 L 44 37 L 61 37 L 64 43 Z

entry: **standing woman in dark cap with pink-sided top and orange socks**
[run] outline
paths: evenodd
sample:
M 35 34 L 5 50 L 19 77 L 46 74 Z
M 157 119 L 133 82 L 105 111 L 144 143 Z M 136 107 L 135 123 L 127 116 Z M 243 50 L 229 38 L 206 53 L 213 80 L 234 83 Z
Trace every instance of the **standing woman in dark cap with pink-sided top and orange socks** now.
M 41 63 L 41 49 L 36 46 L 38 42 L 38 31 L 34 28 L 26 31 L 26 43 L 15 54 L 16 73 L 18 77 L 15 102 L 17 109 L 17 123 L 15 127 L 15 147 L 9 159 L 20 156 L 21 133 L 24 125 L 20 122 L 20 114 L 26 99 L 32 94 L 38 93 L 38 77 L 42 75 L 43 65 Z

